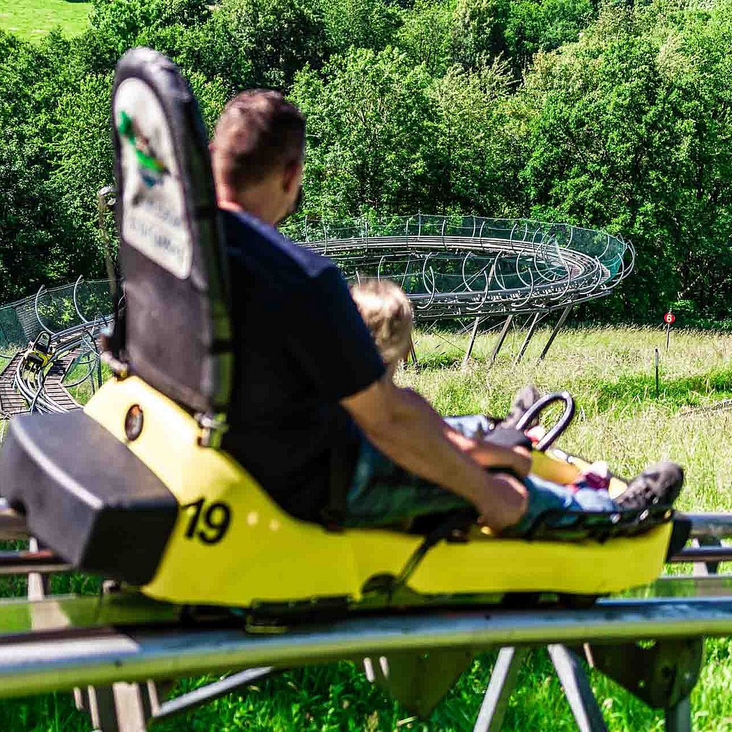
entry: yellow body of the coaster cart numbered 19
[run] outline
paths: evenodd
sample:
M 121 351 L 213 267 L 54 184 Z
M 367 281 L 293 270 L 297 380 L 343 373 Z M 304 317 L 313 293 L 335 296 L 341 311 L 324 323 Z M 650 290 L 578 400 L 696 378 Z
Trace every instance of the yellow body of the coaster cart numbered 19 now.
M 124 419 L 134 405 L 141 407 L 143 427 L 138 438 L 128 441 Z M 86 413 L 125 442 L 182 507 L 154 580 L 141 588 L 150 597 L 239 607 L 332 596 L 357 602 L 369 578 L 399 575 L 422 542 L 418 536 L 381 529 L 334 533 L 291 518 L 225 452 L 200 447 L 195 419 L 138 378 L 105 384 Z M 551 455 L 537 455 L 536 464 L 537 473 L 548 478 L 577 470 Z M 222 505 L 230 516 L 223 532 Z M 199 519 L 212 506 L 210 529 Z M 441 542 L 430 550 L 408 588 L 430 596 L 606 594 L 657 578 L 670 533 L 666 524 L 605 544 L 478 534 L 469 542 Z

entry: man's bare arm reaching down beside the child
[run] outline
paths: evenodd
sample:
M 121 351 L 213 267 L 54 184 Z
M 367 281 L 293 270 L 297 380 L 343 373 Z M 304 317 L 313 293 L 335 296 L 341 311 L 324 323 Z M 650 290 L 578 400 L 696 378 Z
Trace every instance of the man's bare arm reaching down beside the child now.
M 341 403 L 384 455 L 471 501 L 491 528 L 511 526 L 525 512 L 525 486 L 484 468 L 503 467 L 525 475 L 528 454 L 466 438 L 416 392 L 386 378 Z

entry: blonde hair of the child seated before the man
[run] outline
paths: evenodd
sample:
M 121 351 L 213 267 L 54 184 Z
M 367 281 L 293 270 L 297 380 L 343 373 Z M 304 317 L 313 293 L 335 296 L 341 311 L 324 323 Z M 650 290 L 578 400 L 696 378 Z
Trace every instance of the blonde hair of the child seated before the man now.
M 351 285 L 351 297 L 384 363 L 396 366 L 408 353 L 414 322 L 411 302 L 403 289 L 389 280 L 363 280 Z

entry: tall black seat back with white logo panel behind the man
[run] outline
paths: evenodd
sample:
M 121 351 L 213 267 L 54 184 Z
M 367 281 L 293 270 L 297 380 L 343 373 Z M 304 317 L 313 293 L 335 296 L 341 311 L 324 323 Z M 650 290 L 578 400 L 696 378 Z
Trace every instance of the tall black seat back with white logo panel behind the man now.
M 206 130 L 175 64 L 125 53 L 112 127 L 126 296 L 113 355 L 183 406 L 221 414 L 232 367 L 223 235 Z

